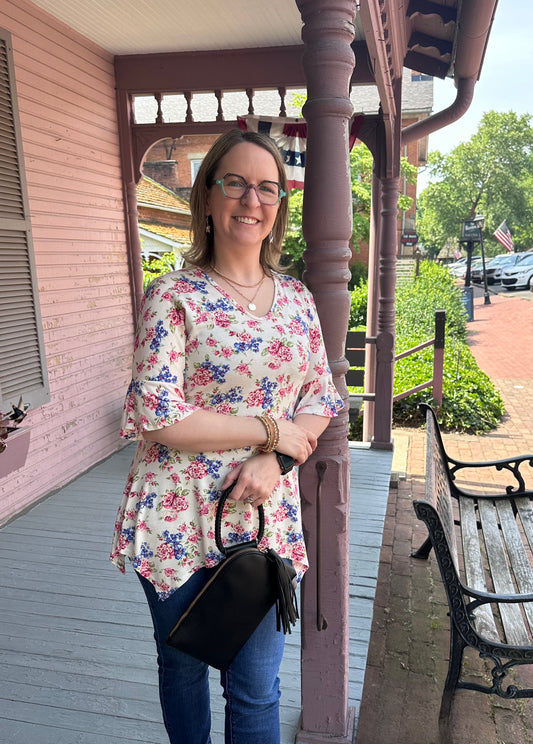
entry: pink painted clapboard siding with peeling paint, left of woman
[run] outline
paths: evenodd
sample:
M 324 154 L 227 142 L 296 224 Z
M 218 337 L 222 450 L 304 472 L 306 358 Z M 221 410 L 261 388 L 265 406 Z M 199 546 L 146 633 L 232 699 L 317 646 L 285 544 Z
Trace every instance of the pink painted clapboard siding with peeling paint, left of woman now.
M 112 57 L 24 0 L 0 0 L 0 26 L 12 34 L 51 391 L 26 419 L 26 464 L 0 479 L 2 523 L 120 446 L 133 317 Z

